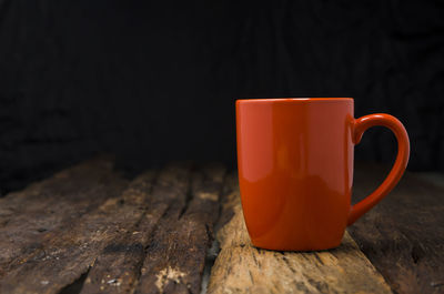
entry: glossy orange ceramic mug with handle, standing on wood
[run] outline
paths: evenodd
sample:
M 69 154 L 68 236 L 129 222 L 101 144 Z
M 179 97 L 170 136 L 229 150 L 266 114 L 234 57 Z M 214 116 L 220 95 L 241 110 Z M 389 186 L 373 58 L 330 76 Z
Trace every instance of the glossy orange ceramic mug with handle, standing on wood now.
M 396 161 L 381 186 L 351 206 L 353 148 L 374 125 L 395 134 Z M 352 98 L 241 99 L 236 134 L 245 224 L 253 245 L 268 250 L 339 246 L 345 227 L 396 185 L 410 154 L 397 119 L 354 119 Z

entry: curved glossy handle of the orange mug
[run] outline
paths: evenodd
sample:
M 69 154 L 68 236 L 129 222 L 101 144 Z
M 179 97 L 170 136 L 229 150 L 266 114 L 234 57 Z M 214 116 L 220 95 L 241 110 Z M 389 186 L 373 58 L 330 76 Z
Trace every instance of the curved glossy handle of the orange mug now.
M 410 155 L 410 142 L 407 132 L 405 131 L 404 125 L 396 118 L 390 114 L 375 113 L 354 120 L 352 131 L 353 143 L 359 144 L 362 134 L 369 128 L 376 125 L 389 128 L 395 134 L 397 140 L 396 161 L 387 178 L 385 178 L 384 182 L 382 182 L 382 184 L 372 194 L 351 207 L 347 225 L 353 224 L 364 213 L 370 211 L 383 197 L 385 197 L 389 192 L 392 191 L 392 189 L 397 184 L 405 171 L 405 168 L 407 166 Z

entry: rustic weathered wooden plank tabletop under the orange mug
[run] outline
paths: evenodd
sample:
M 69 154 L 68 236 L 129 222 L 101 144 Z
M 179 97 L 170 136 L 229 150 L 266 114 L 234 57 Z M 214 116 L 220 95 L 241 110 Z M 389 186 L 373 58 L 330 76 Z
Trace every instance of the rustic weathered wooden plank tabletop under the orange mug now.
M 386 170 L 359 166 L 357 195 Z M 444 293 L 444 176 L 407 173 L 340 247 L 252 247 L 235 173 L 98 158 L 0 199 L 0 293 Z

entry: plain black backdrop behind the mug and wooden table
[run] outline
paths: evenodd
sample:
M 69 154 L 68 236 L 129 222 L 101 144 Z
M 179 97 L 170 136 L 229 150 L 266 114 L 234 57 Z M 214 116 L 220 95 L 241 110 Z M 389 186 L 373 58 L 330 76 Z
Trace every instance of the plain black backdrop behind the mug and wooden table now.
M 444 171 L 443 1 L 0 1 L 0 189 L 97 153 L 235 166 L 235 98 L 353 97 Z M 391 163 L 370 130 L 357 160 Z

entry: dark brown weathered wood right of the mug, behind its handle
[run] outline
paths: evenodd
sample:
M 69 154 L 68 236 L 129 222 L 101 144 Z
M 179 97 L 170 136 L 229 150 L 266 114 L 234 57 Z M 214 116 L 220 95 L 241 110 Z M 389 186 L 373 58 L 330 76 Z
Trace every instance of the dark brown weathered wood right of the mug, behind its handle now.
M 354 194 L 383 180 L 381 166 L 359 166 Z M 396 293 L 444 293 L 444 189 L 406 173 L 398 186 L 350 227 L 361 250 Z M 357 200 L 357 199 L 356 199 Z

